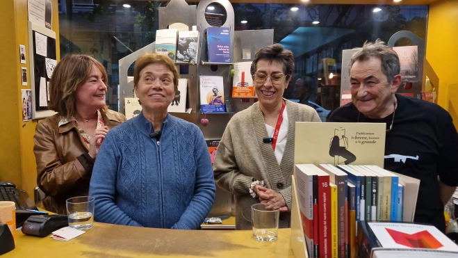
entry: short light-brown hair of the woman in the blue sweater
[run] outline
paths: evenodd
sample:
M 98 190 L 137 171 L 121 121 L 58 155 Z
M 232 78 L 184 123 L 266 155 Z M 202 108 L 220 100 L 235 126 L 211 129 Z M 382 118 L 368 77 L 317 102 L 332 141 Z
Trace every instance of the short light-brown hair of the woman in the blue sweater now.
M 173 85 L 174 90 L 178 90 L 178 79 L 180 74 L 178 73 L 177 67 L 175 67 L 174 61 L 170 59 L 169 56 L 163 54 L 154 54 L 154 53 L 145 53 L 138 56 L 135 69 L 133 70 L 133 85 L 134 87 L 138 86 L 138 81 L 140 81 L 140 72 L 147 67 L 148 65 L 157 63 L 159 65 L 165 65 L 170 72 L 173 74 Z

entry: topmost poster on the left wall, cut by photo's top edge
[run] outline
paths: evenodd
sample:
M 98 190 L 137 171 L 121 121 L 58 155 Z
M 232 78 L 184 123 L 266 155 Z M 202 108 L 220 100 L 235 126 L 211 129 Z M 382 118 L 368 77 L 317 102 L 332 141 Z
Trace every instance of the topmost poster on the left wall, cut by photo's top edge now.
M 28 20 L 43 26 L 47 29 L 52 29 L 52 3 L 51 0 L 28 0 Z

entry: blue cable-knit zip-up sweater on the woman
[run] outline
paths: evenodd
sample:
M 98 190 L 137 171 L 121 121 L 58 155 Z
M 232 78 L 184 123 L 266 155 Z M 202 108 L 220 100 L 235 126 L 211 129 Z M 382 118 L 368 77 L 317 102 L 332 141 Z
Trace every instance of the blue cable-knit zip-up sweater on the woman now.
M 89 194 L 103 223 L 197 229 L 215 199 L 199 127 L 167 115 L 160 144 L 143 113 L 111 129 L 95 160 Z

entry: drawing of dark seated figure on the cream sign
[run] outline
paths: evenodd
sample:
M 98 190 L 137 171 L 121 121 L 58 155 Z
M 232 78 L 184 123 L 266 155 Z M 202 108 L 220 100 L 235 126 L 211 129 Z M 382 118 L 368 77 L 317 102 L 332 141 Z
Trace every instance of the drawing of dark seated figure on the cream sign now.
M 329 155 L 334 157 L 334 166 L 348 165 L 357 160 L 357 157 L 348 149 L 348 138 L 345 136 L 345 128 L 334 129 L 334 137 L 329 143 Z

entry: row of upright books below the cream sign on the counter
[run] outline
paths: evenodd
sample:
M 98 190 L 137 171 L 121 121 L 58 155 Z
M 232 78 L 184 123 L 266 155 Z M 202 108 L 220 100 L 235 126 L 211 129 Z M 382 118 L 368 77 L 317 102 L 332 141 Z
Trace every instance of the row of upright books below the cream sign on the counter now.
M 309 257 L 357 257 L 357 223 L 414 219 L 420 181 L 378 166 L 297 164 Z

